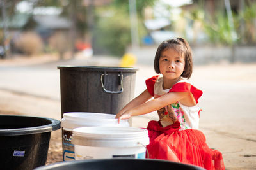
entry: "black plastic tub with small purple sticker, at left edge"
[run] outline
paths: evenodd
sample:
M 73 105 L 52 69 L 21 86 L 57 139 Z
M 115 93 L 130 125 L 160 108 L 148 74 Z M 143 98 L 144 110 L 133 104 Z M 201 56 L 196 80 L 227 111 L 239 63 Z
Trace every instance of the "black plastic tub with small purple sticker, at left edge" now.
M 0 169 L 44 166 L 51 131 L 57 129 L 60 121 L 52 118 L 0 115 Z

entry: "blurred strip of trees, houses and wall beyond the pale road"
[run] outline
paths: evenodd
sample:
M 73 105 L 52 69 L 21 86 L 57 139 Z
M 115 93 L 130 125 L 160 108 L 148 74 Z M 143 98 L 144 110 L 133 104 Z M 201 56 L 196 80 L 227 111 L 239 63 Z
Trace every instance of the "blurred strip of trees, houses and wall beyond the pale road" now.
M 77 53 L 141 56 L 152 48 L 155 52 L 166 39 L 182 36 L 193 47 L 195 64 L 256 61 L 254 0 L 0 2 L 1 59 L 48 54 L 61 60 Z

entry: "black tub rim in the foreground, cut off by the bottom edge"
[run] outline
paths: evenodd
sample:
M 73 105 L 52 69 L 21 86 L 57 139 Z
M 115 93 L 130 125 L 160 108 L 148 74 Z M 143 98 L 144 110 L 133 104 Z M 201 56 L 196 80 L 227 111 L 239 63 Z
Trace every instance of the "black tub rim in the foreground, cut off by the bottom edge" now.
M 203 170 L 198 166 L 188 164 L 180 164 L 178 162 L 170 162 L 167 160 L 157 159 L 90 159 L 75 160 L 51 164 L 49 166 L 38 167 L 35 170 L 156 170 L 156 169 L 184 169 L 184 170 Z

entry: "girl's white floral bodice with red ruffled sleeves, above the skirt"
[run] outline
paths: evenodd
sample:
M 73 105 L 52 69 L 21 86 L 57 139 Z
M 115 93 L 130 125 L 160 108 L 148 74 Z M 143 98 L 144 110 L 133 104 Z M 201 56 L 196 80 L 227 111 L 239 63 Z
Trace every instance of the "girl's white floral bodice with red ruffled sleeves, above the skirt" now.
M 157 113 L 163 127 L 169 125 L 166 124 L 166 122 L 171 122 L 170 124 L 172 124 L 175 121 L 179 121 L 180 130 L 199 128 L 200 103 L 198 102 L 198 99 L 200 96 L 202 96 L 201 90 L 196 89 L 196 87 L 188 83 L 186 80 L 177 82 L 170 89 L 163 89 L 163 77 L 161 76 L 154 76 L 149 78 L 146 80 L 146 85 L 148 92 L 153 94 L 152 96 L 155 98 L 168 92 L 191 92 L 196 101 L 195 106 L 184 106 L 179 101 L 177 101 L 176 103 L 170 104 L 170 106 L 161 108 L 157 111 Z

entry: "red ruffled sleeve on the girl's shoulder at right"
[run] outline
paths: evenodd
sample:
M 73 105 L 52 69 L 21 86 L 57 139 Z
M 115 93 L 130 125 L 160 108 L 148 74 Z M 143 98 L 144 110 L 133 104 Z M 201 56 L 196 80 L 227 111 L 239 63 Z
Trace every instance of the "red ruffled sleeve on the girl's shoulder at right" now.
M 169 92 L 191 92 L 195 98 L 196 103 L 198 99 L 202 96 L 202 90 L 197 89 L 195 86 L 187 82 L 180 82 L 173 85 Z

